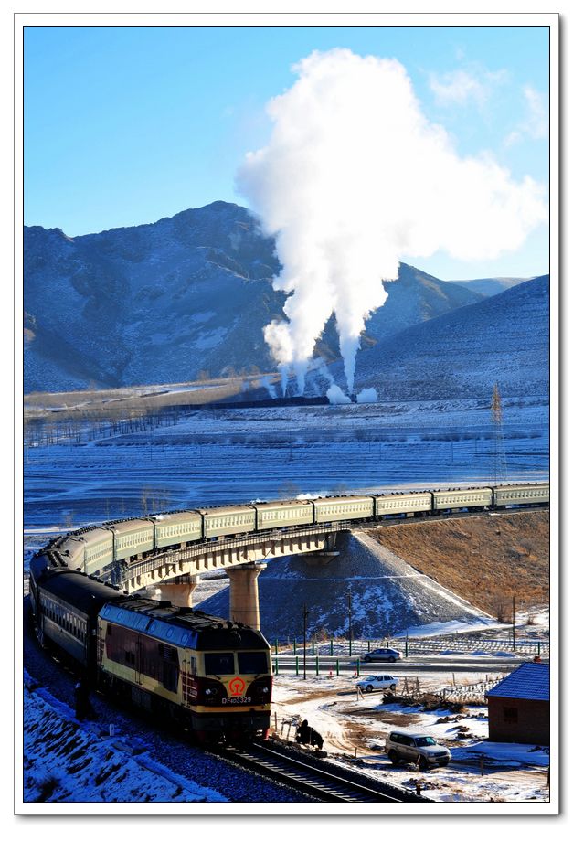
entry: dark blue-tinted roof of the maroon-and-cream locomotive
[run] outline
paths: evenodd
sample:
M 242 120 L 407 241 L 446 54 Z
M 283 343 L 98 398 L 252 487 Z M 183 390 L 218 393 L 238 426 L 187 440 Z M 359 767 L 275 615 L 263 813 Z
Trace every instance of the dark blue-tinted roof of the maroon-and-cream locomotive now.
M 167 644 L 199 651 L 260 649 L 268 643 L 260 631 L 235 622 L 226 622 L 203 611 L 180 608 L 170 601 L 133 599 L 108 603 L 101 619 L 154 636 Z

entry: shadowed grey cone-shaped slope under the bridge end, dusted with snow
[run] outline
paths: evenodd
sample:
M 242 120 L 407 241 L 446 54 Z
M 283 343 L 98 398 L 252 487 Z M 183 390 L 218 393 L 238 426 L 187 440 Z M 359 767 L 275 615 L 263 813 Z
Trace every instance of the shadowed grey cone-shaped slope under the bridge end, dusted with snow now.
M 259 578 L 260 624 L 268 638 L 302 636 L 302 604 L 311 633 L 344 635 L 348 591 L 357 638 L 395 636 L 454 620 L 486 627 L 491 617 L 414 570 L 366 535 L 339 538 L 338 557 L 311 566 L 303 555 L 269 561 Z M 201 603 L 228 615 L 228 588 Z

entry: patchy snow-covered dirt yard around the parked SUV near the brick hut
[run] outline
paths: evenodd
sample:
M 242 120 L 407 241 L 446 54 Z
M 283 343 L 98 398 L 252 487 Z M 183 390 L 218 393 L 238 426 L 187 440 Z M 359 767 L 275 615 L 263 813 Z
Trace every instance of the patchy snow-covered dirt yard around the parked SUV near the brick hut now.
M 413 673 L 412 678 L 415 677 Z M 418 678 L 420 687 L 429 692 L 439 691 L 449 681 L 449 676 L 438 670 L 420 671 Z M 467 684 L 482 680 L 480 673 L 463 676 L 463 683 Z M 308 719 L 323 735 L 324 750 L 330 760 L 411 789 L 419 782 L 421 792 L 432 800 L 548 800 L 548 749 L 487 741 L 487 708 L 483 704 L 464 708 L 460 713 L 447 708 L 430 712 L 422 707 L 384 704 L 379 693 L 360 697 L 355 682 L 351 676 L 309 677 L 304 682 L 301 677 L 276 677 L 273 707 L 278 734 L 292 740 L 296 722 Z M 433 736 L 450 748 L 451 764 L 427 772 L 419 772 L 414 765 L 395 768 L 383 750 L 390 729 L 414 729 Z

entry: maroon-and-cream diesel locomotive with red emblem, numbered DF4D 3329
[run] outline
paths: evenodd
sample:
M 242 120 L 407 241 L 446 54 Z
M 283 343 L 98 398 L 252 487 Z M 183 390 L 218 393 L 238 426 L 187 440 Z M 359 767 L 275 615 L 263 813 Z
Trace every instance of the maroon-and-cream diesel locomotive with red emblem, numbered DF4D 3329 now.
M 101 685 L 200 737 L 265 736 L 271 650 L 258 631 L 169 602 L 106 605 L 98 621 Z

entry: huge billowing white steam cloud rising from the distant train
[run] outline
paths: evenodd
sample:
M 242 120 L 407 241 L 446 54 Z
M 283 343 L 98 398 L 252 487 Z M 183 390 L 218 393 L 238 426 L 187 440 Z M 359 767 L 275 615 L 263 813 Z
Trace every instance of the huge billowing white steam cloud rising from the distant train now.
M 304 389 L 316 339 L 336 316 L 348 389 L 365 321 L 386 301 L 403 257 L 437 250 L 476 260 L 515 250 L 546 219 L 543 186 L 512 180 L 488 154 L 462 158 L 421 112 L 395 59 L 313 52 L 272 99 L 270 143 L 247 154 L 239 190 L 276 238 L 274 288 L 288 321 L 265 340 Z

